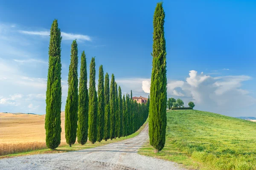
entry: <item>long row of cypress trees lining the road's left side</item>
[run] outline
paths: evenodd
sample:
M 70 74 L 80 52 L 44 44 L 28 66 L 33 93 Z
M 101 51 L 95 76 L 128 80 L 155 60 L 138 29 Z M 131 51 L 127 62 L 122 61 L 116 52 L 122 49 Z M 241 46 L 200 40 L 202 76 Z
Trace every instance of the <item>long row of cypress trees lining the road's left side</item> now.
M 49 68 L 46 91 L 46 144 L 55 149 L 61 142 L 61 31 L 57 20 L 50 29 Z M 146 121 L 149 96 L 146 104 L 138 104 L 129 94 L 122 95 L 115 77 L 103 72 L 99 66 L 98 91 L 96 91 L 95 58 L 90 62 L 89 90 L 87 88 L 87 61 L 81 53 L 78 81 L 78 47 L 71 44 L 68 73 L 68 94 L 65 106 L 65 138 L 71 147 L 76 138 L 79 144 L 120 138 L 136 132 Z M 78 86 L 79 85 L 79 86 Z

